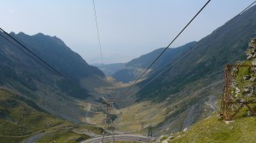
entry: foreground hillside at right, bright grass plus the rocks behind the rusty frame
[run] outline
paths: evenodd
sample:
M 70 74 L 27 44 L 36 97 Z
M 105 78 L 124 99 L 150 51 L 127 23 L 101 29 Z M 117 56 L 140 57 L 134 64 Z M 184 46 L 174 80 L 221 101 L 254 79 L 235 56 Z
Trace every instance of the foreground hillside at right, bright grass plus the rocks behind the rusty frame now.
M 189 130 L 184 129 L 184 132 L 172 134 L 167 138 L 169 142 L 254 142 L 255 132 L 255 69 L 249 66 L 256 65 L 256 39 L 252 39 L 248 44 L 247 60 L 236 62 L 236 67 L 230 70 L 232 86 L 230 90 L 230 100 L 232 101 L 232 121 L 225 121 L 227 114 L 226 108 L 221 108 L 221 112 L 214 112 L 213 116 L 207 117 L 199 123 L 196 123 Z M 225 71 L 227 72 L 227 71 Z M 226 87 L 227 88 L 227 87 Z M 224 102 L 224 100 L 221 100 Z M 241 106 L 245 102 L 247 106 Z M 224 104 L 224 103 L 223 103 Z M 239 110 L 237 110 L 239 109 Z M 218 115 L 218 116 L 217 116 Z M 203 135 L 202 135 L 203 134 Z M 157 142 L 160 142 L 158 140 Z

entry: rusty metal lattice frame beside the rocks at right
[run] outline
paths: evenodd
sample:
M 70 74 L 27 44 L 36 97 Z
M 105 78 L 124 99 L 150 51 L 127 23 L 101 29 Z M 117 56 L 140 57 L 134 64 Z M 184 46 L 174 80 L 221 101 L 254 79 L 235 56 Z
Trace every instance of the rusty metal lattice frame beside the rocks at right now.
M 226 121 L 233 120 L 233 117 L 245 106 L 256 115 L 256 84 L 249 79 L 251 75 L 255 74 L 256 66 L 241 64 L 225 66 L 224 94 L 221 102 L 220 115 L 224 116 Z M 247 88 L 246 86 L 253 88 L 251 89 L 251 93 L 248 94 L 246 91 L 238 89 L 238 87 Z M 247 90 L 249 91 L 249 89 Z

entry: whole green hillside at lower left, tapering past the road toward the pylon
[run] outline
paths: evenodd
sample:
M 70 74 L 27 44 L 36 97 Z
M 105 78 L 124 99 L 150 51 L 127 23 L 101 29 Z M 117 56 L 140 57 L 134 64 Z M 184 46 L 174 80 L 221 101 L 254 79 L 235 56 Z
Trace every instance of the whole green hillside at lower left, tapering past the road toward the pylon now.
M 20 142 L 34 134 L 47 134 L 38 142 L 79 142 L 90 134 L 102 134 L 102 129 L 90 125 L 74 125 L 50 116 L 32 100 L 0 89 L 0 142 Z

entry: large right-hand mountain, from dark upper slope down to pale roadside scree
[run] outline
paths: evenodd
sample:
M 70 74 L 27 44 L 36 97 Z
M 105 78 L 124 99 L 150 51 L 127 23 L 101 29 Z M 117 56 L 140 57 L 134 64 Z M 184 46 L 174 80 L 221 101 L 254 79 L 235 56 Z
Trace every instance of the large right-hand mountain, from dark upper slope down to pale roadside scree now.
M 150 100 L 165 107 L 166 119 L 158 123 L 155 130 L 171 133 L 183 129 L 189 111 L 196 111 L 190 123 L 207 117 L 207 100 L 211 96 L 220 99 L 223 93 L 224 66 L 246 60 L 247 43 L 256 37 L 255 16 L 256 6 L 253 6 L 228 25 L 202 38 L 189 54 L 179 55 L 183 59 L 175 66 L 169 63 L 154 70 L 148 79 L 137 84 L 142 88 L 166 70 L 137 93 L 138 102 Z

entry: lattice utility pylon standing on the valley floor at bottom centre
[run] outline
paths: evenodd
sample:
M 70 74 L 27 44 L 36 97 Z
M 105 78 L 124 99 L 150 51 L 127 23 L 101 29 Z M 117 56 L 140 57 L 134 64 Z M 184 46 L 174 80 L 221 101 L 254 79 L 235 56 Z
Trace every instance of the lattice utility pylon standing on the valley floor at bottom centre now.
M 113 138 L 113 142 L 114 142 L 114 137 L 113 137 L 113 129 L 114 128 L 113 128 L 113 121 L 111 118 L 111 111 L 112 111 L 114 102 L 111 100 L 105 99 L 103 96 L 102 96 L 102 100 L 103 100 L 102 104 L 105 107 L 105 114 L 106 114 L 105 122 L 104 122 L 105 125 L 104 125 L 104 130 L 103 130 L 103 135 L 102 135 L 102 142 L 103 143 L 105 142 L 104 137 L 105 137 L 107 129 L 111 130 L 111 134 L 112 134 L 112 138 Z

